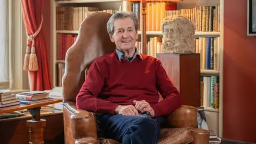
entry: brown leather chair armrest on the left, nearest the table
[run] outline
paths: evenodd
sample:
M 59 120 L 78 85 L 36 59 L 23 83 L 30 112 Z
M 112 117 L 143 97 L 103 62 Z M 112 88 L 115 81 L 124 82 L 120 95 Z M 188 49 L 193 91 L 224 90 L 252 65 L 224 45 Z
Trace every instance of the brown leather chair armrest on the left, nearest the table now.
M 97 139 L 97 123 L 94 113 L 77 109 L 75 102 L 65 102 L 63 106 L 69 111 L 70 129 L 74 139 L 92 137 Z

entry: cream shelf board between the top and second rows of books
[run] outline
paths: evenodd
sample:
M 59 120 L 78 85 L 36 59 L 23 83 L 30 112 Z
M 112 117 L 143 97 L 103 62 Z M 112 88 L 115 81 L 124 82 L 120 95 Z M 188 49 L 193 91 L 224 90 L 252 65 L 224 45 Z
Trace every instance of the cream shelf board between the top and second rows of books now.
M 56 33 L 62 34 L 78 34 L 78 30 L 56 30 Z M 138 31 L 138 34 L 141 35 L 141 31 Z M 147 35 L 162 35 L 162 31 L 147 31 Z M 219 36 L 220 32 L 212 31 L 212 32 L 205 32 L 205 31 L 196 31 L 195 36 Z

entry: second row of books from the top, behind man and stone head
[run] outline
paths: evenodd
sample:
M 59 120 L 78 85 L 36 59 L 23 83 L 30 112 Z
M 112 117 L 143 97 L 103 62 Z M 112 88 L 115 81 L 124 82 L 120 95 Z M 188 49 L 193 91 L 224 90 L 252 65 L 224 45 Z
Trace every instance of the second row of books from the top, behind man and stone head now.
M 67 50 L 76 41 L 77 34 L 57 34 L 57 59 L 65 60 Z M 194 39 L 195 52 L 201 53 L 201 69 L 219 70 L 219 37 L 198 37 Z M 162 37 L 150 37 L 147 42 L 147 55 L 156 57 L 161 53 Z M 142 53 L 141 42 L 136 46 Z

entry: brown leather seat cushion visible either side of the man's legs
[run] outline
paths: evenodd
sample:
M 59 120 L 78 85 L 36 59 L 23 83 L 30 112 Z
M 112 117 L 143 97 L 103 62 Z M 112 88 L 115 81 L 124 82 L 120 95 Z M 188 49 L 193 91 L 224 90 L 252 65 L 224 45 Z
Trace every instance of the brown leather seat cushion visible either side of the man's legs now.
M 119 144 L 118 141 L 113 139 L 99 138 L 100 144 Z M 161 129 L 161 139 L 158 140 L 159 144 L 186 144 L 193 141 L 190 134 L 189 127 Z

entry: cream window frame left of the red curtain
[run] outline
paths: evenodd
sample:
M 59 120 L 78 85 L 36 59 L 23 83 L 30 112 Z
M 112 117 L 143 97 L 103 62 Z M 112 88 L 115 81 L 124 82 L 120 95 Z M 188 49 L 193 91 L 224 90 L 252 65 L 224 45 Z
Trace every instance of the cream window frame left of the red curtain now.
M 0 89 L 29 90 L 28 72 L 23 70 L 26 54 L 27 35 L 23 22 L 21 1 L 9 1 L 9 81 L 0 82 Z M 13 25 L 15 23 L 15 25 Z

